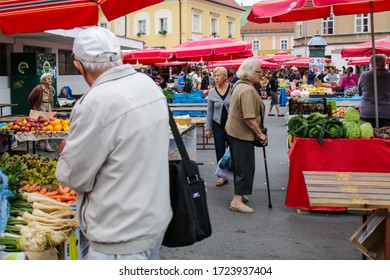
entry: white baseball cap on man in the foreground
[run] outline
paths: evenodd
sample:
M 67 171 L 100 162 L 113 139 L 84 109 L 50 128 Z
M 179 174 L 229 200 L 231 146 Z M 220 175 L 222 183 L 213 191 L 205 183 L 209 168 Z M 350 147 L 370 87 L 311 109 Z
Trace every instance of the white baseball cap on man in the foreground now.
M 73 54 L 86 62 L 110 62 L 121 59 L 119 40 L 106 28 L 91 27 L 80 32 L 73 42 Z

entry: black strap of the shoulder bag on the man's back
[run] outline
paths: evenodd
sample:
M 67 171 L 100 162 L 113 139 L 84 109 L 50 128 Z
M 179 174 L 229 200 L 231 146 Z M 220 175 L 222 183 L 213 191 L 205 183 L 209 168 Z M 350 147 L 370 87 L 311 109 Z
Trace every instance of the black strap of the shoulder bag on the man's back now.
M 188 156 L 187 150 L 184 146 L 183 139 L 180 136 L 179 129 L 177 128 L 175 119 L 173 118 L 173 114 L 170 108 L 169 111 L 169 126 L 171 127 L 173 137 L 175 138 L 176 146 L 179 150 L 184 172 L 187 175 L 188 184 L 193 184 L 199 181 L 198 174 L 196 173 L 194 166 L 191 164 L 190 157 Z

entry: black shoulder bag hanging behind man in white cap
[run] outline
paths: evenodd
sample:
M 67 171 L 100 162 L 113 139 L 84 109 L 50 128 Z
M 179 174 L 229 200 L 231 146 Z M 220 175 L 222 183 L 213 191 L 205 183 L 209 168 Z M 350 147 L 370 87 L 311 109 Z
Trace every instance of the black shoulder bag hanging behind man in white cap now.
M 209 237 L 211 223 L 207 208 L 206 185 L 199 175 L 198 164 L 188 156 L 170 110 L 169 125 L 182 159 L 169 161 L 173 217 L 165 232 L 162 245 L 181 247 Z

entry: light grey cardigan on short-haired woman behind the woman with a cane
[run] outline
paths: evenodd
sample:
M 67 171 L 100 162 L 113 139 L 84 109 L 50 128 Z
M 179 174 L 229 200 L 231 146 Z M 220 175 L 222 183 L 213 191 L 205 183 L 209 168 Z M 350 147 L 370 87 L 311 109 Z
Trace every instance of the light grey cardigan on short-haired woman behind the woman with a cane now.
M 213 87 L 208 95 L 207 102 L 207 115 L 206 115 L 206 127 L 205 130 L 212 129 L 212 123 L 215 121 L 218 124 L 221 124 L 222 118 L 222 106 L 225 106 L 226 110 L 229 112 L 230 106 L 230 94 L 232 92 L 233 86 L 229 84 L 229 90 L 226 93 L 225 100 L 221 98 L 218 94 L 215 87 Z

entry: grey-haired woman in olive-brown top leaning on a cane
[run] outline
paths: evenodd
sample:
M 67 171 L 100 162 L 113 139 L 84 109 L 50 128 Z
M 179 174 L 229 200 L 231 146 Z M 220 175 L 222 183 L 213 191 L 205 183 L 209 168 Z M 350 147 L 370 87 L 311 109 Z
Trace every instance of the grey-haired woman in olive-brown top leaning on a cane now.
M 231 93 L 226 123 L 234 172 L 234 196 L 230 210 L 250 214 L 254 210 L 245 203 L 248 202 L 246 195 L 251 195 L 253 191 L 255 174 L 253 141 L 259 139 L 264 144 L 268 141 L 267 135 L 260 127 L 261 119 L 264 119 L 265 106 L 253 86 L 261 79 L 260 61 L 247 58 L 236 75 L 239 80 Z

